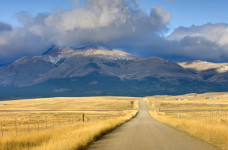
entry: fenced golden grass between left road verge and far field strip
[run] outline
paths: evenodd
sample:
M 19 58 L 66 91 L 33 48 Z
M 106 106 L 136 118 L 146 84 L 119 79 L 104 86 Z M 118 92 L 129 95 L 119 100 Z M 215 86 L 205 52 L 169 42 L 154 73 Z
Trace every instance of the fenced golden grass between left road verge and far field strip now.
M 98 122 L 124 115 L 123 111 L 2 112 L 0 113 L 0 130 L 2 125 L 4 136 L 11 136 L 46 130 L 46 128 L 69 126 L 82 122 L 83 114 L 85 122 Z

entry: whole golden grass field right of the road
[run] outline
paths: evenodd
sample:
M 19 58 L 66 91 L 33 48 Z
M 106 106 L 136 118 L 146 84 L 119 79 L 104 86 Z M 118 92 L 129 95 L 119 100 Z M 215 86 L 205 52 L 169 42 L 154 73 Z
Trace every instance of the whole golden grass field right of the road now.
M 228 93 L 144 98 L 156 120 L 228 150 Z

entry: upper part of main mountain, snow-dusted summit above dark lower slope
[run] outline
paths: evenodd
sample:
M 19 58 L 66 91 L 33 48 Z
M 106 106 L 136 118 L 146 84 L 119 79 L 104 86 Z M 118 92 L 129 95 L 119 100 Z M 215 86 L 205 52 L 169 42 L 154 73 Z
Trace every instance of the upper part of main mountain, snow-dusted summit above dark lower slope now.
M 138 58 L 102 47 L 52 47 L 42 56 L 23 57 L 1 69 L 0 85 L 29 86 L 49 79 L 85 76 L 94 71 L 122 80 L 150 76 L 199 78 L 178 64 L 160 58 Z

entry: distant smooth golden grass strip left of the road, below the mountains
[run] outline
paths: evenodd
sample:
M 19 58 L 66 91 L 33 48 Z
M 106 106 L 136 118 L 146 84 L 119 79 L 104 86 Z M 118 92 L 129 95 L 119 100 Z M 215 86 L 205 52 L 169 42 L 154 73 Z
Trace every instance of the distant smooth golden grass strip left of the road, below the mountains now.
M 126 110 L 135 97 L 56 97 L 0 101 L 0 110 Z

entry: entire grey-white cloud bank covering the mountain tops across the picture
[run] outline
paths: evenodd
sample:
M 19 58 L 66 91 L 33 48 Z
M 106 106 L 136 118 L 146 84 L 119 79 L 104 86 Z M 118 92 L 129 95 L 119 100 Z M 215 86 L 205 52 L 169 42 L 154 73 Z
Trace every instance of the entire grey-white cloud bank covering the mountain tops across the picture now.
M 35 17 L 17 14 L 20 27 L 0 22 L 0 63 L 39 55 L 51 45 L 100 45 L 141 57 L 228 61 L 228 25 L 179 27 L 167 38 L 171 14 L 162 7 L 146 13 L 137 0 L 75 0 L 75 8 Z

